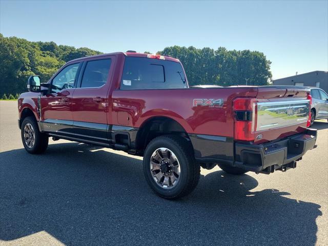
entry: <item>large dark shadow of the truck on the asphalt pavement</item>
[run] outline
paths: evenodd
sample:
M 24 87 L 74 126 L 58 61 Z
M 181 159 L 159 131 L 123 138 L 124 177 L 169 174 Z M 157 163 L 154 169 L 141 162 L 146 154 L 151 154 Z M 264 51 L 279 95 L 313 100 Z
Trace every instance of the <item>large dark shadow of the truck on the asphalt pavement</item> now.
M 0 153 L 0 240 L 46 231 L 67 245 L 315 245 L 315 203 L 253 177 L 215 171 L 196 190 L 165 200 L 148 187 L 141 160 L 84 144 L 43 155 Z M 44 245 L 47 242 L 43 243 Z

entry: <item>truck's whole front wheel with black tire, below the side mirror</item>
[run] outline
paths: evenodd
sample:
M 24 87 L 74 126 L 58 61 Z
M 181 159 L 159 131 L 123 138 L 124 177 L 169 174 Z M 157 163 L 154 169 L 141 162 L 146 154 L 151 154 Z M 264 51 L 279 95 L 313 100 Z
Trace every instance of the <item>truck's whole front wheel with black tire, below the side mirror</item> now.
M 39 132 L 33 117 L 26 117 L 20 128 L 24 148 L 31 154 L 40 154 L 46 151 L 49 137 Z

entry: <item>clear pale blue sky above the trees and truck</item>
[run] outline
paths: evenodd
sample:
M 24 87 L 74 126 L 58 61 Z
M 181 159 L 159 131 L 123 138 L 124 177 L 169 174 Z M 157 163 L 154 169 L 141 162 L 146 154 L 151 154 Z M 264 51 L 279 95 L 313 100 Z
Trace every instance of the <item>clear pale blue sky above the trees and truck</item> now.
M 101 52 L 263 52 L 273 78 L 328 70 L 328 1 L 3 1 L 0 32 Z

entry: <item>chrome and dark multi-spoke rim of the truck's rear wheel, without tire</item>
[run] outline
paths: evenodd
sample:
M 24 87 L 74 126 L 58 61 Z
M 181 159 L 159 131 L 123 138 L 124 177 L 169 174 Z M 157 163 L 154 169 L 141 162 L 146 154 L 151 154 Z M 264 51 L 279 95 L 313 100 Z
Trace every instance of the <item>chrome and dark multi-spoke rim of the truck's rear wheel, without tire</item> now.
M 150 172 L 159 187 L 172 189 L 180 178 L 178 158 L 171 150 L 159 148 L 150 157 Z

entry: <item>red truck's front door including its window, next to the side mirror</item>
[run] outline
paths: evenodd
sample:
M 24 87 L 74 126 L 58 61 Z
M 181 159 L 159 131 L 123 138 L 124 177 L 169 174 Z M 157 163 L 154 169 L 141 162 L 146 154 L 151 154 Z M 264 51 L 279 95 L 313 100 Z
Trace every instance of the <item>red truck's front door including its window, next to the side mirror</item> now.
M 72 95 L 81 63 L 69 64 L 51 80 L 47 95 L 41 97 L 44 130 L 59 134 L 73 128 Z

